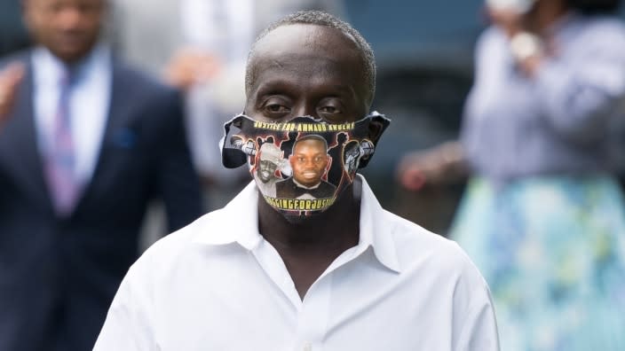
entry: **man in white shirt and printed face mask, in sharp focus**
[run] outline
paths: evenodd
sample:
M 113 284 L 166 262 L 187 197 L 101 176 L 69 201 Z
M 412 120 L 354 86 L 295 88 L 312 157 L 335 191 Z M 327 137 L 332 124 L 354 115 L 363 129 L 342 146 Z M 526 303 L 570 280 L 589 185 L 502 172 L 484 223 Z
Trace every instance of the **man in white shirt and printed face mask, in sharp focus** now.
M 226 124 L 224 141 L 273 136 L 288 150 L 294 134 L 323 134 L 343 152 L 352 139 L 376 144 L 388 124 L 363 118 L 375 89 L 368 43 L 323 12 L 260 35 L 246 87 L 249 117 Z M 222 152 L 227 167 L 246 162 L 240 147 Z M 328 172 L 340 181 L 320 210 L 281 208 L 315 201 L 275 201 L 250 183 L 156 243 L 124 278 L 95 350 L 497 350 L 487 285 L 462 250 L 384 211 L 364 177 L 344 173 Z

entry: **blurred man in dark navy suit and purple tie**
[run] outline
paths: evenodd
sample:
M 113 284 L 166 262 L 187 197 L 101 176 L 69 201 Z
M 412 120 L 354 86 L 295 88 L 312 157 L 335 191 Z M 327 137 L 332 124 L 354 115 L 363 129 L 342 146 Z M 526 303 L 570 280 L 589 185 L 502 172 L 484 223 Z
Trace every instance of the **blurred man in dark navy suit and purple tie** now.
M 0 78 L 0 349 L 90 349 L 149 200 L 200 214 L 178 93 L 99 43 L 104 0 L 25 0 Z

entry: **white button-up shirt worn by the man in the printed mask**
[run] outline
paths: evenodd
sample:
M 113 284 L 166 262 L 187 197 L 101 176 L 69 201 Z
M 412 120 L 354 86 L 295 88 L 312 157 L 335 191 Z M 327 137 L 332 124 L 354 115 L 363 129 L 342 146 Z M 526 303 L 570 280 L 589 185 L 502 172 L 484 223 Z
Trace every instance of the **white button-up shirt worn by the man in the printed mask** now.
M 385 211 L 360 179 L 360 242 L 304 300 L 258 233 L 250 183 L 143 254 L 94 349 L 498 350 L 487 284 L 465 253 Z

